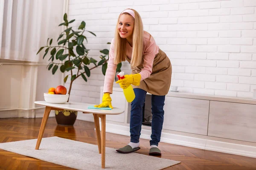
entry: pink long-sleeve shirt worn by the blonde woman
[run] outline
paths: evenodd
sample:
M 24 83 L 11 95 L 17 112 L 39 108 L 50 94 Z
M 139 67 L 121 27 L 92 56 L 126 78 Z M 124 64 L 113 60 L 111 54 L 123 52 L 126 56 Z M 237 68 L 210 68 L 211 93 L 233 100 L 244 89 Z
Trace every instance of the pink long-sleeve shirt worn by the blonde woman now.
M 154 57 L 159 52 L 159 47 L 156 45 L 156 42 L 154 38 L 151 36 L 150 40 L 150 34 L 146 31 L 143 32 L 143 55 L 144 55 L 144 62 L 143 62 L 143 69 L 140 72 L 141 79 L 146 79 L 150 76 L 152 73 L 152 67 L 154 62 Z M 113 81 L 116 75 L 116 67 L 117 65 L 114 64 L 114 38 L 111 41 L 110 50 L 109 50 L 109 60 L 108 60 L 108 68 L 105 74 L 105 81 L 104 81 L 104 88 L 103 93 L 110 93 L 113 92 Z M 132 47 L 129 45 L 128 42 L 126 42 L 126 54 L 128 59 L 131 59 L 132 54 Z

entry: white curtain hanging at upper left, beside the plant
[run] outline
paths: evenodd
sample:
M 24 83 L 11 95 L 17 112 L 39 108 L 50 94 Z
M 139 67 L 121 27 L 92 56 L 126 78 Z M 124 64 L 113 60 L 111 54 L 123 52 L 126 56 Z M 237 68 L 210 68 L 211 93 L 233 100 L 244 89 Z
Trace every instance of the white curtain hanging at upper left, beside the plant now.
M 57 37 L 63 0 L 0 0 L 0 59 L 38 62 L 47 38 Z M 1 24 L 2 23 L 2 24 Z M 43 53 L 43 52 L 42 52 Z M 43 54 L 41 54 L 43 55 Z

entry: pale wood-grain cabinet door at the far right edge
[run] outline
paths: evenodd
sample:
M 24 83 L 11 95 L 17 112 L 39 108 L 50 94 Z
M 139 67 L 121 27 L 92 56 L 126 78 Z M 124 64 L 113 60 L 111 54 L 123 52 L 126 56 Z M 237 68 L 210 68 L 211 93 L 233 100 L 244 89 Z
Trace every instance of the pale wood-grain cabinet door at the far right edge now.
M 256 105 L 210 102 L 208 136 L 256 142 Z

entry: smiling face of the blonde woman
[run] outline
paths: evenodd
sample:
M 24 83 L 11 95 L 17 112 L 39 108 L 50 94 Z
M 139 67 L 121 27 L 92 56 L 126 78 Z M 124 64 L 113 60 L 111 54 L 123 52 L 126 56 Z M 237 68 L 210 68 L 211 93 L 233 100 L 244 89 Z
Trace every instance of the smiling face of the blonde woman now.
M 131 15 L 122 14 L 119 18 L 117 30 L 121 38 L 131 38 L 134 29 L 134 19 Z

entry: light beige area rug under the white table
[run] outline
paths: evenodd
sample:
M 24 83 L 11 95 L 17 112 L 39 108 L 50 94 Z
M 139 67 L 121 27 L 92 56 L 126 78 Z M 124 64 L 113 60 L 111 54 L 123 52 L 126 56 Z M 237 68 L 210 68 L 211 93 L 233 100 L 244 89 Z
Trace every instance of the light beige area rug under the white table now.
M 0 149 L 79 170 L 100 170 L 98 146 L 59 137 L 43 138 L 39 150 L 37 139 L 0 143 Z M 160 170 L 180 161 L 147 156 L 139 153 L 122 154 L 106 147 L 107 170 Z

